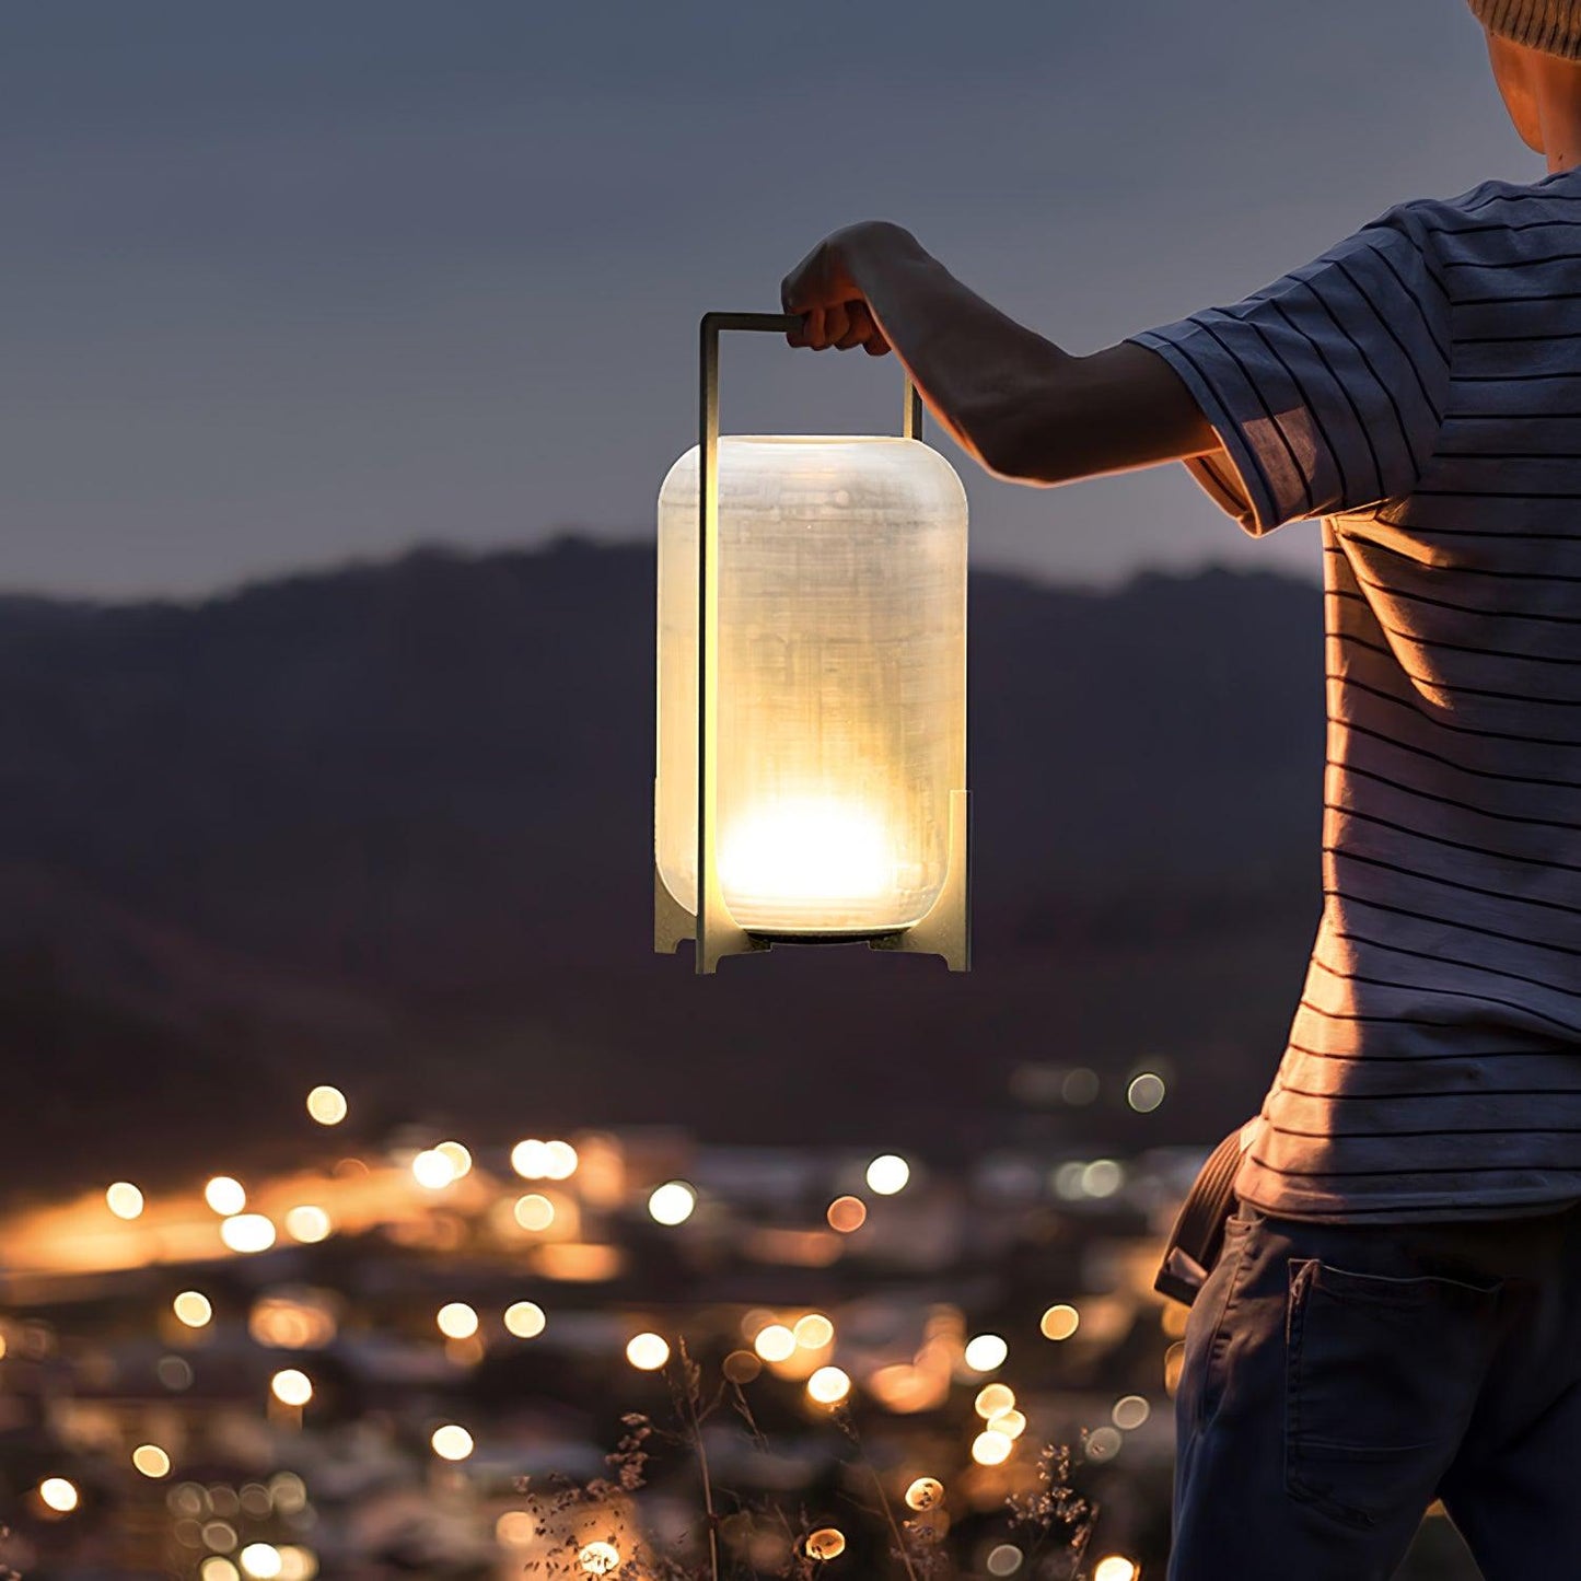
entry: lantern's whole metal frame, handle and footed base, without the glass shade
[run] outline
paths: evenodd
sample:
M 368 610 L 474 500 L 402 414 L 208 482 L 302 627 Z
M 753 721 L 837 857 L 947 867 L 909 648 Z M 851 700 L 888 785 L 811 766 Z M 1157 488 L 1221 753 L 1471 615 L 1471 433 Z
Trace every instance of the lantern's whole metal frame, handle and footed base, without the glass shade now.
M 697 914 L 669 892 L 653 860 L 653 947 L 674 953 L 696 941 L 696 969 L 707 975 L 721 957 L 767 950 L 775 944 L 866 944 L 874 950 L 942 955 L 952 972 L 971 969 L 971 792 L 950 792 L 950 838 L 944 889 L 909 928 L 884 933 L 759 933 L 743 928 L 724 904 L 715 860 L 719 756 L 711 729 L 719 699 L 719 334 L 757 330 L 787 335 L 802 326 L 795 313 L 704 313 L 700 324 L 697 409 Z M 922 395 L 906 375 L 901 438 L 922 438 Z M 655 827 L 658 781 L 655 781 Z

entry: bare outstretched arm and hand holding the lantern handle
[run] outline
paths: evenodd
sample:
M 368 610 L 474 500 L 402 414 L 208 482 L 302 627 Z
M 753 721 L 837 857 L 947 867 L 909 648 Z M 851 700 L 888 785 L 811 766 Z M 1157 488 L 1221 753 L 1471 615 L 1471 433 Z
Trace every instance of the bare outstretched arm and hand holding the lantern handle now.
M 1145 346 L 1086 357 L 1007 318 L 882 220 L 819 242 L 786 277 L 794 346 L 893 349 L 928 409 L 988 471 L 1062 484 L 1221 449 L 1175 370 Z

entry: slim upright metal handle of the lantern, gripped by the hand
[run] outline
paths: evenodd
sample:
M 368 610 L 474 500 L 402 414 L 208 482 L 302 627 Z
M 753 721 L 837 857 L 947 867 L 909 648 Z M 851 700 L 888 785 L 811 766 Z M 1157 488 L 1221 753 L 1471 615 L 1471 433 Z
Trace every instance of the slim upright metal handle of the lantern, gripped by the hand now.
M 711 724 L 719 697 L 719 334 L 759 330 L 787 335 L 800 313 L 704 313 L 700 324 L 697 411 L 697 953 L 699 972 L 711 972 L 721 955 L 767 949 L 738 926 L 724 904 L 715 862 L 715 811 L 719 756 Z M 922 395 L 906 375 L 901 438 L 922 438 Z

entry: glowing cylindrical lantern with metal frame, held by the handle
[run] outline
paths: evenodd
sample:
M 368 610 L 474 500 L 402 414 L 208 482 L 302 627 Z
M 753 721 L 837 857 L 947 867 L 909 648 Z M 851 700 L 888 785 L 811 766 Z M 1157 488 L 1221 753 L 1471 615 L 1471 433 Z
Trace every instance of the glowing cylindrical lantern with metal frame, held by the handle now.
M 699 972 L 773 944 L 863 941 L 969 963 L 966 493 L 917 438 L 719 438 L 659 492 L 655 947 Z

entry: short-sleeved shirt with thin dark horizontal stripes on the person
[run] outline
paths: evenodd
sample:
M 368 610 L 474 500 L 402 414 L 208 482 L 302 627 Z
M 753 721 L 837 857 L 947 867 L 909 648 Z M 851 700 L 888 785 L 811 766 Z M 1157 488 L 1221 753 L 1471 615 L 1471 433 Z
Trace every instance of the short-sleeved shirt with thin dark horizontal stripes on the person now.
M 1581 171 L 1391 209 L 1135 340 L 1219 504 L 1323 519 L 1323 914 L 1240 1195 L 1581 1198 Z

